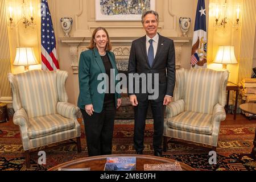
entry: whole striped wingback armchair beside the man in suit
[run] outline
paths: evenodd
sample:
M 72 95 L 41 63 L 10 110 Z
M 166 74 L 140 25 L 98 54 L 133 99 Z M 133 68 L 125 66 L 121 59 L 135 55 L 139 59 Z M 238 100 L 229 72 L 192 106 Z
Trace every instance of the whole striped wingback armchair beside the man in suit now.
M 166 107 L 164 151 L 167 138 L 208 144 L 216 151 L 220 121 L 224 121 L 228 71 L 176 71 L 174 102 Z

